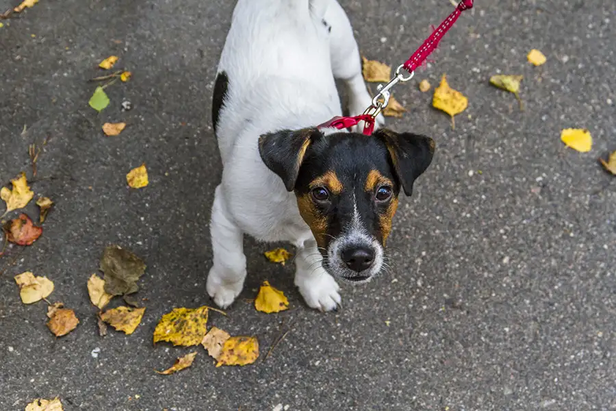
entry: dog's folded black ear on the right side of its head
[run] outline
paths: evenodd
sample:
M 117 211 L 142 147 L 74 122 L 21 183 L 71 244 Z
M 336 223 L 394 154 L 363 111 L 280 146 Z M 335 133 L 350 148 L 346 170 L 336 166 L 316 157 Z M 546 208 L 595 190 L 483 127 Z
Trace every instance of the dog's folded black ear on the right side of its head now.
M 379 129 L 374 136 L 381 138 L 387 145 L 398 179 L 405 194 L 413 194 L 413 183 L 422 175 L 432 162 L 435 142 L 432 138 L 418 134 L 392 132 Z

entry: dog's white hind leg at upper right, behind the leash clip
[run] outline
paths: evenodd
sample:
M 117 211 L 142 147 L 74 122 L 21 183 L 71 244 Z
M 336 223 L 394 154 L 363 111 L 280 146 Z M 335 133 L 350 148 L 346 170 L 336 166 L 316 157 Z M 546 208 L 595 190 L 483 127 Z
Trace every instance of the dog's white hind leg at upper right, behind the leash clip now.
M 324 1 L 324 0 L 320 0 Z M 353 36 L 353 29 L 346 12 L 336 0 L 329 0 L 323 24 L 329 29 L 331 69 L 336 79 L 346 84 L 348 90 L 348 111 L 350 115 L 362 114 L 372 102 L 361 75 L 361 58 L 359 48 Z M 385 119 L 379 115 L 376 128 L 385 125 Z

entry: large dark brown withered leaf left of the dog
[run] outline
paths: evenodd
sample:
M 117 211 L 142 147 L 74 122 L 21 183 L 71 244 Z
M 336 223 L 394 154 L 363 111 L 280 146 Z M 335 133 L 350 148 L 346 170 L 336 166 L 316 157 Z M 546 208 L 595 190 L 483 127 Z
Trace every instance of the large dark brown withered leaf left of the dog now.
M 111 295 L 133 294 L 139 290 L 137 280 L 145 272 L 146 265 L 135 254 L 118 245 L 105 247 L 101 258 L 105 292 Z

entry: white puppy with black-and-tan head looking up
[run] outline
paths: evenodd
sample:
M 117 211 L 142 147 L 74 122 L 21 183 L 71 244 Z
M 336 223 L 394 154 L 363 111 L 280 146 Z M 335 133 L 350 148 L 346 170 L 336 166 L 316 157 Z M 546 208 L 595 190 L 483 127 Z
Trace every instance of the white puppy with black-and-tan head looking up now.
M 340 305 L 336 279 L 362 284 L 383 269 L 398 195 L 411 195 L 434 142 L 384 129 L 381 116 L 371 136 L 318 129 L 342 115 L 335 79 L 362 114 L 372 99 L 336 0 L 238 0 L 212 100 L 223 169 L 207 292 L 221 308 L 244 286 L 244 234 L 296 247 L 295 284 L 318 310 Z

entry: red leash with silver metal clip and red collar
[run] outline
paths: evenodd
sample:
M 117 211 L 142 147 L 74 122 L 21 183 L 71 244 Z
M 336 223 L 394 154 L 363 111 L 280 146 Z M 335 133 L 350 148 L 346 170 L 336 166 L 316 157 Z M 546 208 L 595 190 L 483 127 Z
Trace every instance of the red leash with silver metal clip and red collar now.
M 357 125 L 360 121 L 365 121 L 363 134 L 370 136 L 374 130 L 374 119 L 376 119 L 376 116 L 378 116 L 383 108 L 387 107 L 387 104 L 389 103 L 389 97 L 391 97 L 389 89 L 398 84 L 398 82 L 408 82 L 412 79 L 415 75 L 415 69 L 424 64 L 424 61 L 426 61 L 428 55 L 431 55 L 431 53 L 435 51 L 439 45 L 439 42 L 457 21 L 460 14 L 470 8 L 473 8 L 473 0 L 462 0 L 457 5 L 456 10 L 454 10 L 454 12 L 450 14 L 449 17 L 446 18 L 445 21 L 439 25 L 439 27 L 437 27 L 437 29 L 435 29 L 430 37 L 424 41 L 424 44 L 422 44 L 422 46 L 417 49 L 413 55 L 411 55 L 411 58 L 409 58 L 405 64 L 398 66 L 398 69 L 396 69 L 396 77 L 394 77 L 389 83 L 385 84 L 385 86 L 378 86 L 378 94 L 374 96 L 374 99 L 372 99 L 372 104 L 365 110 L 365 112 L 363 112 L 363 114 L 352 117 L 336 116 L 330 121 L 326 121 L 325 123 L 318 125 L 318 128 L 334 127 L 337 129 L 344 129 Z M 407 77 L 402 75 L 402 73 L 400 73 L 401 69 L 405 69 L 409 72 L 409 75 Z M 382 101 L 381 97 L 383 98 Z

